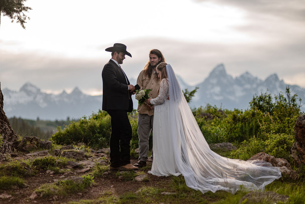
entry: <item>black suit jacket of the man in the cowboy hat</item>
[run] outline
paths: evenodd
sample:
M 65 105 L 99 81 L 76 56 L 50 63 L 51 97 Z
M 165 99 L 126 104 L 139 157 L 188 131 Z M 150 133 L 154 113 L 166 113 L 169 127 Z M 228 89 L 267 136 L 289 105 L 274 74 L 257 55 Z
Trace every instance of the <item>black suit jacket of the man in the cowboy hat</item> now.
M 128 90 L 124 72 L 113 60 L 105 64 L 102 71 L 103 80 L 103 104 L 102 110 L 133 110 L 131 93 Z

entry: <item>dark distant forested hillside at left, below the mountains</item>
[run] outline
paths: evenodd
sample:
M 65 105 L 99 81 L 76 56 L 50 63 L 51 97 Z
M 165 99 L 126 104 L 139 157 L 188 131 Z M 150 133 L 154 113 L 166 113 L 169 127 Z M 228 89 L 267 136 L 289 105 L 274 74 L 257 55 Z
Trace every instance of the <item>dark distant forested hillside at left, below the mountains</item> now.
M 65 125 L 69 124 L 67 120 L 29 120 L 23 118 L 9 118 L 9 122 L 15 132 L 22 137 L 35 136 L 44 140 L 48 140 L 53 133 L 57 131 L 57 127 L 62 129 Z

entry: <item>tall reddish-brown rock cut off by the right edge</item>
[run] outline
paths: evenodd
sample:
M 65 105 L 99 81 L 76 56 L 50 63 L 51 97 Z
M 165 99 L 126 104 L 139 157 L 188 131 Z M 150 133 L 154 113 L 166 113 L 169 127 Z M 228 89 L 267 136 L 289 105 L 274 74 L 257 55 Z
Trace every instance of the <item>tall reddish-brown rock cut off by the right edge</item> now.
M 296 142 L 291 148 L 291 157 L 296 165 L 305 164 L 305 115 L 296 120 L 294 126 L 294 139 Z

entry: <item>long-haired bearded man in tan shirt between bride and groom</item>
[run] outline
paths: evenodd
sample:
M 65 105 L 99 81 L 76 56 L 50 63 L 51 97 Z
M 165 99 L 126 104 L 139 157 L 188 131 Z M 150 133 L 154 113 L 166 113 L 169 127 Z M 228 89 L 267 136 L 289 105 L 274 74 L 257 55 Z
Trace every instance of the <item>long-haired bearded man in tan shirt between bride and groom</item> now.
M 160 50 L 152 49 L 149 52 L 149 61 L 145 64 L 144 69 L 140 72 L 137 84 L 141 89 L 152 89 L 149 92 L 149 97 L 156 98 L 160 79 L 156 73 L 156 67 L 161 62 L 165 62 L 163 54 Z M 138 135 L 139 135 L 139 161 L 135 164 L 136 167 L 146 166 L 146 160 L 149 152 L 149 136 L 153 126 L 153 107 L 142 104 L 138 106 Z M 153 158 L 151 156 L 151 158 Z

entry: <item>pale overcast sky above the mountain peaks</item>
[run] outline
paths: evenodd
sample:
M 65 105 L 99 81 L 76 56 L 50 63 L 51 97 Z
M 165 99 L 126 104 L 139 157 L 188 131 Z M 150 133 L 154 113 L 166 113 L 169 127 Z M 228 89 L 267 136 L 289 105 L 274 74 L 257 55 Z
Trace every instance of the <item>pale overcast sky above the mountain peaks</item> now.
M 305 88 L 304 0 L 28 0 L 24 30 L 1 16 L 0 82 L 30 82 L 47 93 L 102 94 L 107 47 L 127 46 L 122 68 L 137 78 L 150 49 L 159 49 L 189 85 L 224 63 Z

